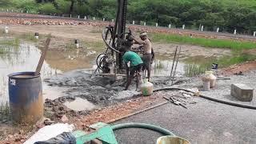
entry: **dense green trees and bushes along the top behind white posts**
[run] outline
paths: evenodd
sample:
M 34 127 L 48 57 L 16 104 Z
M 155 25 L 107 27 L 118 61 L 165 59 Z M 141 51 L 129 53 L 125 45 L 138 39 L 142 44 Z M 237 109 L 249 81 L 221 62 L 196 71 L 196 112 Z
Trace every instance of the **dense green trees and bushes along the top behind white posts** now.
M 182 27 L 253 34 L 255 0 L 128 0 L 127 20 L 147 25 Z M 117 0 L 0 0 L 0 8 L 28 10 L 35 14 L 74 14 L 115 18 Z

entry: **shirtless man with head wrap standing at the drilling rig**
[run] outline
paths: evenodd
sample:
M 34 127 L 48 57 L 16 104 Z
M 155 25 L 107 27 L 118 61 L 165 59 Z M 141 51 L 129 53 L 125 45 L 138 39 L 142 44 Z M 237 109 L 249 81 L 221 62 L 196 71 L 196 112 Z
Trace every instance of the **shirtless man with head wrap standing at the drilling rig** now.
M 152 43 L 151 43 L 150 39 L 147 38 L 147 36 L 146 36 L 146 32 L 142 32 L 139 35 L 139 37 L 141 39 L 138 39 L 138 38 L 135 38 L 134 36 L 132 36 L 135 44 L 142 45 L 142 48 L 143 48 L 142 70 L 143 71 L 147 70 L 147 78 L 148 78 L 148 81 L 150 82 L 151 64 L 154 61 L 154 50 L 153 50 Z

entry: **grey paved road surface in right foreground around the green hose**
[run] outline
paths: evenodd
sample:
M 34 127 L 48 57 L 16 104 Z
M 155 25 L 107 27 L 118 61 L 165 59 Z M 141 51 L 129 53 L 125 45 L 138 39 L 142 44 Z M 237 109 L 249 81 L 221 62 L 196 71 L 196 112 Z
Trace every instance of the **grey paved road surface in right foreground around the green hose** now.
M 172 130 L 191 143 L 256 143 L 256 110 L 195 98 L 186 110 L 167 104 L 126 118 L 122 122 L 145 122 Z M 119 143 L 150 144 L 160 136 L 148 130 L 125 129 L 115 134 Z

